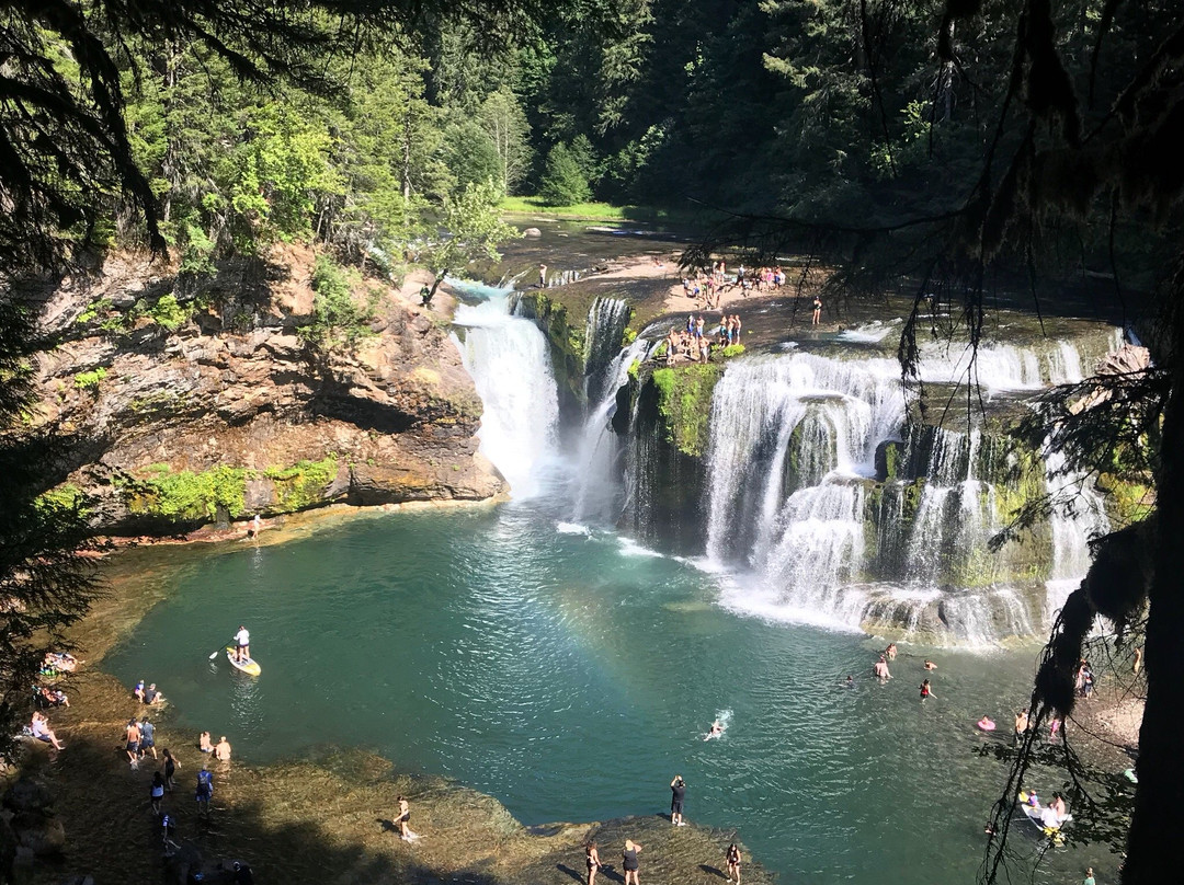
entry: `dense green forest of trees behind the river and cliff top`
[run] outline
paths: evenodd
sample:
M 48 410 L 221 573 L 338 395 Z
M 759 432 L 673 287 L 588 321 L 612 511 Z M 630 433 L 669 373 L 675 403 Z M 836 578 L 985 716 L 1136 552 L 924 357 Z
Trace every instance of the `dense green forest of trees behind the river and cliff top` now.
M 1130 80 L 1131 47 L 1172 15 L 1111 6 L 1054 17 L 1066 85 L 1090 99 L 1082 131 Z M 816 231 L 941 218 L 986 157 L 998 164 L 1024 137 L 1000 129 L 1014 15 L 1012 4 L 941 24 L 938 2 L 584 0 L 494 40 L 458 20 L 347 41 L 265 83 L 192 35 L 112 54 L 131 149 L 184 270 L 277 238 L 381 265 L 423 260 L 440 213 L 474 185 L 489 200 L 776 213 Z M 90 235 L 134 239 L 135 219 L 115 188 Z M 1150 248 L 1130 219 L 1117 235 L 1133 264 Z M 1076 227 L 1068 260 L 1109 260 L 1108 238 L 1106 225 Z

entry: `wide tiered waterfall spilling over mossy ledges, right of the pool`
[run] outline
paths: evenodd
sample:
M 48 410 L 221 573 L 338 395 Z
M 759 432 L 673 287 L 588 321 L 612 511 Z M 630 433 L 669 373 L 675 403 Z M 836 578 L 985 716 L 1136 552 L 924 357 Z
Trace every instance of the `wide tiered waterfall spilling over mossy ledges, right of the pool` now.
M 1072 343 L 1047 351 L 1056 360 L 1023 348 L 991 353 L 1000 358 L 979 370 L 993 373 L 997 389 L 1081 372 Z M 892 360 L 792 354 L 727 368 L 712 400 L 707 473 L 707 556 L 738 570 L 726 605 L 971 645 L 1041 626 L 1063 600 L 1063 581 L 1085 571 L 1087 538 L 1103 528 L 1100 499 L 1087 495 L 1053 518 L 1050 540 L 1030 540 L 1051 544 L 1047 597 L 1031 582 L 1012 586 L 1011 573 L 1028 569 L 1022 557 L 1034 554 L 987 547 L 1010 516 L 996 485 L 1014 467 L 1005 444 L 987 444 L 973 427 L 925 425 L 909 425 L 902 439 L 905 405 Z M 886 445 L 905 466 L 876 477 Z M 1044 464 L 1050 491 L 1074 480 L 1055 457 Z

